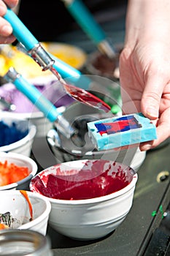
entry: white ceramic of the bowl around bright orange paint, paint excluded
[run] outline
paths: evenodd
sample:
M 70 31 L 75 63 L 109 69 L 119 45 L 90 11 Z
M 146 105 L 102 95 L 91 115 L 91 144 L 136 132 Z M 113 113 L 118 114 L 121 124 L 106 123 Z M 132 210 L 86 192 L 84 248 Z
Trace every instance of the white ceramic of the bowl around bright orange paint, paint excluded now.
M 33 159 L 30 157 L 26 157 L 22 154 L 17 154 L 17 153 L 5 153 L 5 152 L 0 152 L 0 162 L 4 163 L 7 161 L 7 164 L 15 164 L 19 167 L 28 167 L 29 174 L 26 176 L 26 178 L 21 179 L 20 181 L 17 181 L 12 184 L 7 184 L 5 186 L 0 186 L 0 191 L 1 190 L 9 190 L 9 189 L 28 189 L 29 188 L 29 183 L 31 181 L 31 178 L 33 178 L 36 175 L 36 172 L 38 170 L 38 167 L 36 165 L 36 162 L 34 162 Z M 0 177 L 1 177 L 1 172 L 0 172 Z

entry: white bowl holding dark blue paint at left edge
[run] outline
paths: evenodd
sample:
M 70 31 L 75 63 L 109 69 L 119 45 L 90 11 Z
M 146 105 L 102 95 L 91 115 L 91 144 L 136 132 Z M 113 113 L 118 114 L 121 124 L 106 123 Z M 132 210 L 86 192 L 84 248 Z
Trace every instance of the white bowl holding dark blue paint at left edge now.
M 1 124 L 7 124 L 7 133 L 4 134 L 4 137 L 1 137 L 0 139 L 0 145 L 3 145 L 0 146 L 0 151 L 13 152 L 30 157 L 31 147 L 36 135 L 36 126 L 27 119 L 13 116 L 12 113 L 1 112 L 0 121 Z M 15 124 L 15 128 L 12 127 L 13 124 Z M 2 129 L 4 129 L 3 126 L 0 129 L 1 135 L 3 132 Z M 15 135 L 12 133 L 13 131 L 15 131 L 17 136 L 20 135 L 19 140 L 16 139 L 15 141 Z

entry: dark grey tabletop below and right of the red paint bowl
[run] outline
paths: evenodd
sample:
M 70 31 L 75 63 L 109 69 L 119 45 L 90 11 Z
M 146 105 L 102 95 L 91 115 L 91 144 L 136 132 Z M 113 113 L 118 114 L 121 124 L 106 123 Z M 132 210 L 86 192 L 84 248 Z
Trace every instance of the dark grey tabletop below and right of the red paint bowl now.
M 48 227 L 47 236 L 50 236 L 54 255 L 144 255 L 152 234 L 161 226 L 163 212 L 170 202 L 169 176 L 163 181 L 157 180 L 159 173 L 170 171 L 169 151 L 168 144 L 147 152 L 147 157 L 138 171 L 139 179 L 131 211 L 109 236 L 98 241 L 74 241 Z M 153 211 L 156 211 L 154 217 Z

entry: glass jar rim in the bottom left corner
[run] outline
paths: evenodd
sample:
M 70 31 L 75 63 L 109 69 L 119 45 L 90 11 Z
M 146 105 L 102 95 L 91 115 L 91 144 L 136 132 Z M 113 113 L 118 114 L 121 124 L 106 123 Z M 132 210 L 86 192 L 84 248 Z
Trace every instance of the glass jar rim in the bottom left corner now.
M 52 256 L 50 240 L 32 230 L 0 230 L 1 256 Z

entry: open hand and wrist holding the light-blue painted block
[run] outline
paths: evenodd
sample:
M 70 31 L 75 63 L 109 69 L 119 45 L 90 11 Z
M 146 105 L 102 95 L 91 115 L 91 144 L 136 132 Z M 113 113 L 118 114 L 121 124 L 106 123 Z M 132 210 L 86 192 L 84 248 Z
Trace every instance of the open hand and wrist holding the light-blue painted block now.
M 159 4 L 160 1 L 145 1 L 151 2 Z M 161 5 L 163 2 L 168 3 L 163 0 Z M 170 136 L 170 36 L 167 32 L 170 29 L 170 7 L 156 7 L 158 12 L 155 8 L 152 18 L 146 11 L 147 7 L 144 7 L 144 12 L 139 7 L 143 17 L 138 12 L 138 21 L 134 18 L 134 10 L 131 12 L 125 48 L 120 55 L 123 113 L 142 112 L 157 129 L 158 139 L 141 143 L 142 151 L 155 148 Z

